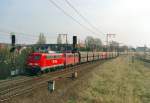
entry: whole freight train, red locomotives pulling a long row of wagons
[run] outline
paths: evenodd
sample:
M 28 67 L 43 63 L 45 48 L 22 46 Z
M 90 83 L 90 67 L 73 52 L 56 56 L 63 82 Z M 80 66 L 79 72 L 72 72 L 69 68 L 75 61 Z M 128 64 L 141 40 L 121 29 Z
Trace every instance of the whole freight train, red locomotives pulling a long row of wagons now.
M 32 53 L 27 58 L 26 70 L 28 73 L 44 73 L 117 56 L 117 52 Z

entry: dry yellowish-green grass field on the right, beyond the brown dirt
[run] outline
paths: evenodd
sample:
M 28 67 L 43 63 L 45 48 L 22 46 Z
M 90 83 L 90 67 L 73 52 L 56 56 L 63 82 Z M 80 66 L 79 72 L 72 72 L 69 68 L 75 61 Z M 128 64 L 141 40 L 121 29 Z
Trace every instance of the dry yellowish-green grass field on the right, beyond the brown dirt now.
M 91 72 L 68 103 L 150 103 L 150 68 L 143 62 L 120 57 Z

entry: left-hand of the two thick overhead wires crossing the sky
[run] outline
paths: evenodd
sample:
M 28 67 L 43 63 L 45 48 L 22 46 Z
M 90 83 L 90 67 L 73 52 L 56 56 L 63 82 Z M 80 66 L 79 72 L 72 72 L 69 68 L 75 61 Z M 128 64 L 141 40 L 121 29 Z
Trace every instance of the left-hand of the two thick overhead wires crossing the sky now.
M 93 30 L 89 29 L 88 27 L 86 27 L 85 25 L 83 25 L 82 23 L 80 23 L 78 20 L 76 20 L 73 16 L 71 16 L 69 13 L 67 13 L 63 8 L 61 8 L 59 5 L 57 5 L 57 3 L 55 3 L 53 0 L 49 0 L 49 2 L 51 2 L 55 7 L 57 7 L 61 12 L 63 12 L 66 16 L 68 16 L 69 18 L 71 18 L 74 22 L 78 23 L 80 26 L 82 26 L 84 29 L 92 32 L 93 34 L 96 34 Z M 99 34 L 98 34 L 99 35 Z

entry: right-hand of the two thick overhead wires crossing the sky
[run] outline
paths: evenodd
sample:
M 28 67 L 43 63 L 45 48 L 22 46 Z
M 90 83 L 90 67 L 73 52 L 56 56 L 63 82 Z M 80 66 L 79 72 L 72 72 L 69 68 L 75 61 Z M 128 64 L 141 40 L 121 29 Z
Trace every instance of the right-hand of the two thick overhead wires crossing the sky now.
M 87 22 L 93 29 L 100 32 L 101 34 L 104 34 L 102 31 L 97 29 L 88 19 L 86 19 L 68 0 L 65 0 L 66 3 L 85 21 Z M 105 35 L 105 34 L 104 34 Z

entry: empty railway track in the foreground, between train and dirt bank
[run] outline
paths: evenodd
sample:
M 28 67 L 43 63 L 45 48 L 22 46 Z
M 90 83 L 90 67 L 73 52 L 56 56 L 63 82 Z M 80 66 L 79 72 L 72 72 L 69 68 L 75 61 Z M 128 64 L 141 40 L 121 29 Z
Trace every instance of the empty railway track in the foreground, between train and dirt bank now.
M 27 81 L 20 82 L 18 84 L 13 84 L 10 87 L 7 87 L 0 91 L 0 102 L 4 102 L 4 101 L 11 99 L 12 97 L 30 92 L 33 89 L 38 88 L 40 85 L 47 83 L 47 81 L 49 80 L 54 80 L 59 77 L 63 77 L 65 75 L 69 75 L 73 73 L 74 71 L 80 71 L 80 70 L 86 69 L 86 67 L 92 68 L 93 65 L 97 65 L 98 63 L 104 62 L 104 61 L 105 60 L 94 61 L 94 62 L 88 62 L 88 63 L 76 65 L 73 67 L 68 67 L 61 71 L 50 72 L 50 73 L 42 75 L 41 77 L 36 77 Z

